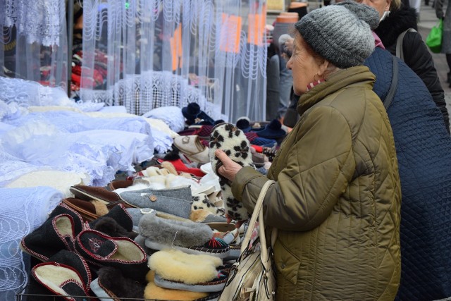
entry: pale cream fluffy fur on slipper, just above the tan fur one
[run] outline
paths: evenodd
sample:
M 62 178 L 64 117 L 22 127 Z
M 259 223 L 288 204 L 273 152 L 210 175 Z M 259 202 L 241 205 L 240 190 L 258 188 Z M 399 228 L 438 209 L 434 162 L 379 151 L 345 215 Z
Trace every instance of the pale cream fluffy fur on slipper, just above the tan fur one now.
M 163 250 L 149 257 L 149 268 L 161 278 L 186 284 L 208 282 L 218 276 L 216 266 L 222 259 L 209 255 L 186 254 L 180 250 Z

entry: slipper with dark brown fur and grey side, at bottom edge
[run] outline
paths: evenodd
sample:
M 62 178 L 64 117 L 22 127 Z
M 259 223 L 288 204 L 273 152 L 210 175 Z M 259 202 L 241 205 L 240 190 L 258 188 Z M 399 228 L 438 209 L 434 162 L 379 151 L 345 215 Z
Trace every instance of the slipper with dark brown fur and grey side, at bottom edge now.
M 111 266 L 104 266 L 97 272 L 98 278 L 91 283 L 91 290 L 100 300 L 142 299 L 145 285 L 125 278 L 122 272 Z

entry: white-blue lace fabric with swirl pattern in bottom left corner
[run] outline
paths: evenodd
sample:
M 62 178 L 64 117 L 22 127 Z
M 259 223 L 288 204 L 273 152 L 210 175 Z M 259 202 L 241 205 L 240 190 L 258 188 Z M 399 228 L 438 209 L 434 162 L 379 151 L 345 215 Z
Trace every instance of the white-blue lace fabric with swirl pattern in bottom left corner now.
M 0 300 L 15 300 L 26 285 L 20 240 L 46 221 L 62 197 L 48 187 L 0 188 Z

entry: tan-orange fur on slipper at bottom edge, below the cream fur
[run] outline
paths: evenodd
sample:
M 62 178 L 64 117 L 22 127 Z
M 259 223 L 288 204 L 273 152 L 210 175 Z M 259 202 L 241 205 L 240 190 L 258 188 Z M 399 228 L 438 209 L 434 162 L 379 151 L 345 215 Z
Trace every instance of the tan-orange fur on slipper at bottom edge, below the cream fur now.
M 144 299 L 149 300 L 180 300 L 180 301 L 192 301 L 200 298 L 207 297 L 208 293 L 189 292 L 187 290 L 172 290 L 169 288 L 160 288 L 154 282 L 155 272 L 149 271 L 147 273 L 146 288 L 144 289 Z

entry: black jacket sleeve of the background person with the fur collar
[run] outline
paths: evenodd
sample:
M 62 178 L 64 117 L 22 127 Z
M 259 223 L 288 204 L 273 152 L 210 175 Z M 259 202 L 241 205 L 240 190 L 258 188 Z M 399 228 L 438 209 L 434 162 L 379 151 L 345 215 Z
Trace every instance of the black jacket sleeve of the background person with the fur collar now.
M 450 115 L 446 109 L 445 92 L 440 85 L 437 70 L 435 70 L 434 61 L 428 47 L 418 32 L 408 32 L 404 37 L 402 48 L 404 53 L 409 53 L 409 56 L 404 57 L 407 66 L 414 70 L 414 73 L 423 80 L 424 85 L 431 92 L 433 101 L 442 112 L 443 121 L 448 133 L 450 133 Z

